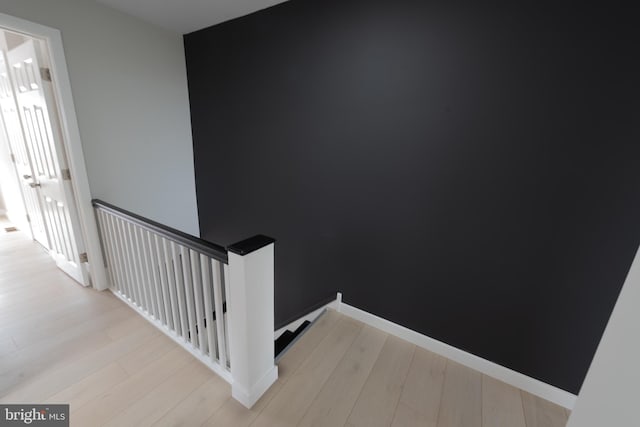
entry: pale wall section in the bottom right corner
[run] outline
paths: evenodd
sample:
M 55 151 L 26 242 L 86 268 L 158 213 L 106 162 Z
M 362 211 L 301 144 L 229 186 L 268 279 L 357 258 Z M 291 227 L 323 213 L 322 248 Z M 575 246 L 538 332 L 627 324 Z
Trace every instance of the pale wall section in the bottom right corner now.
M 618 297 L 568 427 L 640 426 L 640 253 Z

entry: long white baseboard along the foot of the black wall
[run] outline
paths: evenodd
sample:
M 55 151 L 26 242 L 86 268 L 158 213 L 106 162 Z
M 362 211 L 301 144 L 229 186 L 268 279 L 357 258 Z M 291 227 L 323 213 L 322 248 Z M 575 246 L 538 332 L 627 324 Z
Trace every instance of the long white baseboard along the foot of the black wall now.
M 390 322 L 374 314 L 360 310 L 359 308 L 342 303 L 341 295 L 338 295 L 340 302 L 336 304 L 338 307 L 336 311 L 342 314 L 389 334 L 395 335 L 412 344 L 439 354 L 440 356 L 446 357 L 447 359 L 453 360 L 454 362 L 460 363 L 461 365 L 467 366 L 471 369 L 475 369 L 478 372 L 496 378 L 564 408 L 573 409 L 573 406 L 575 405 L 577 399 L 575 394 L 498 365 L 497 363 L 475 356 L 471 353 L 467 353 L 464 350 L 460 350 L 456 347 L 450 346 L 449 344 L 445 344 L 426 335 L 422 335 L 416 331 L 405 328 L 404 326 L 400 326 L 397 323 Z M 338 300 L 335 302 L 337 301 Z

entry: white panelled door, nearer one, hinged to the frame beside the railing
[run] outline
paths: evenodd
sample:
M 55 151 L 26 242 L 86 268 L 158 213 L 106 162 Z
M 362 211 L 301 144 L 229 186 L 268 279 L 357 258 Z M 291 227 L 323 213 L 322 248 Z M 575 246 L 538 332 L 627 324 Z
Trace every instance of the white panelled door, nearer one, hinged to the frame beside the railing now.
M 34 40 L 8 52 L 18 112 L 49 236 L 48 248 L 58 266 L 88 285 L 84 242 L 67 166 L 51 74 Z

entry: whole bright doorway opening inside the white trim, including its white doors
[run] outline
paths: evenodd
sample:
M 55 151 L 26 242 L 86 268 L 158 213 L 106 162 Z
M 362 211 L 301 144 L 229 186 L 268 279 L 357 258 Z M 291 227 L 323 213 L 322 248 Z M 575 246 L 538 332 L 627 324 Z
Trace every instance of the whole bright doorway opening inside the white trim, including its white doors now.
M 47 41 L 0 28 L 0 186 L 9 219 L 78 283 L 88 255 Z

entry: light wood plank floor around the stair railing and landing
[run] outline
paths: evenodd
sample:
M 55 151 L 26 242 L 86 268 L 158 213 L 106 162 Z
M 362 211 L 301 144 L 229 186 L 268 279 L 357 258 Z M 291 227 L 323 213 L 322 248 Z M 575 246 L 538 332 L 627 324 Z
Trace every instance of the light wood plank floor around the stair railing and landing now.
M 109 292 L 0 230 L 0 402 L 69 403 L 72 426 L 560 427 L 556 405 L 328 312 L 247 410 Z

